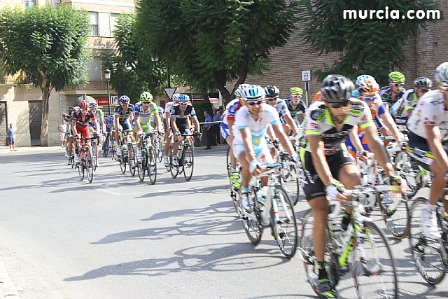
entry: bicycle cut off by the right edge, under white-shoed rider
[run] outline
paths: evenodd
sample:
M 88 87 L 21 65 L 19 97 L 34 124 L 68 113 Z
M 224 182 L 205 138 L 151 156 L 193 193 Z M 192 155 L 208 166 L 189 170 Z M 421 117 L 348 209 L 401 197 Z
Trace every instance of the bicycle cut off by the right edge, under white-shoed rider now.
M 443 190 L 448 195 L 448 188 Z M 409 244 L 412 259 L 417 270 L 429 284 L 439 284 L 448 272 L 448 221 L 444 211 L 443 197 L 437 202 L 437 225 L 441 230 L 440 239 L 431 239 L 423 234 L 420 227 L 420 215 L 425 208 L 427 199 L 418 197 L 412 203 L 409 211 Z

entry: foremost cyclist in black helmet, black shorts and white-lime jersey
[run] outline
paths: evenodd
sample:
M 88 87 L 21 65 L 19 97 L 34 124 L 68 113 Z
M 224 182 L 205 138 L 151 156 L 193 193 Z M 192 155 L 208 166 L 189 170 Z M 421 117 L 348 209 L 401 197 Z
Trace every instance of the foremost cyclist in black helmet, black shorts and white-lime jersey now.
M 313 242 L 318 262 L 315 291 L 321 298 L 336 298 L 335 286 L 328 279 L 324 264 L 328 217 L 326 197 L 344 202 L 349 200 L 343 194 L 344 186 L 353 188 L 360 184 L 358 167 L 341 148 L 341 142 L 353 127 L 358 125 L 365 130 L 367 144 L 389 176 L 389 181 L 401 183 L 378 138 L 370 109 L 365 102 L 351 97 L 353 89 L 353 83 L 344 76 L 329 75 L 323 80 L 321 92 L 325 102 L 314 102 L 309 106 L 300 148 L 304 193 L 314 214 Z M 343 228 L 349 224 L 351 211 L 346 208 Z

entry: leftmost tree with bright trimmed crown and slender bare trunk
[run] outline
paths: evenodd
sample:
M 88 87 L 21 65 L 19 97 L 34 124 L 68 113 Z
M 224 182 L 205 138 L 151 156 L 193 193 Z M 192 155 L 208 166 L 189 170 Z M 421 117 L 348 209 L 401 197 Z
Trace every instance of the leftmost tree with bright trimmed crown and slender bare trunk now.
M 48 146 L 50 92 L 87 83 L 89 19 L 71 6 L 0 11 L 0 64 L 24 74 L 42 92 L 41 145 Z

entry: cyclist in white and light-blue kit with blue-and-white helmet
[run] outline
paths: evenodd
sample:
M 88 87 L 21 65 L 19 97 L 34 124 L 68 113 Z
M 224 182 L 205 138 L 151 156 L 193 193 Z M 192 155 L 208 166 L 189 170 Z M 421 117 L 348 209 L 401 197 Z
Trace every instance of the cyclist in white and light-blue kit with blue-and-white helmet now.
M 280 144 L 296 162 L 298 155 L 283 132 L 279 113 L 274 107 L 264 104 L 265 90 L 258 85 L 249 85 L 244 88 L 242 95 L 243 106 L 235 116 L 233 153 L 242 165 L 241 204 L 246 211 L 251 211 L 252 207 L 248 203 L 249 180 L 252 175 L 260 174 L 260 163 L 274 162 L 265 139 L 269 125 L 272 126 Z M 262 177 L 262 186 L 266 185 L 267 176 L 264 176 Z

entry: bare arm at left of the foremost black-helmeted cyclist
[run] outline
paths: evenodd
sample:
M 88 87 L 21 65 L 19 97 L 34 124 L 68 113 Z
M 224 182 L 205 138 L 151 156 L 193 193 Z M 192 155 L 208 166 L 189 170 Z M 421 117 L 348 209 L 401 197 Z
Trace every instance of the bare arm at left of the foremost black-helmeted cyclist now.
M 325 158 L 325 146 L 321 135 L 307 135 L 309 141 L 309 148 L 311 151 L 311 158 L 313 160 L 314 169 L 321 179 L 323 185 L 326 187 L 333 183 L 335 179 L 330 171 L 330 166 L 328 166 L 327 159 Z

